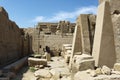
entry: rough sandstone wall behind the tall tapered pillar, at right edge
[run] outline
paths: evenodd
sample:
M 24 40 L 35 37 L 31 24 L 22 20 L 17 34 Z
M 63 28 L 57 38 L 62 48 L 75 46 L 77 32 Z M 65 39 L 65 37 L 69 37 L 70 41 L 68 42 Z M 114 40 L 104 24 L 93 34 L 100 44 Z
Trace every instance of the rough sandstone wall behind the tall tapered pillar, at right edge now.
M 105 0 L 99 0 L 100 3 Z M 111 8 L 111 17 L 114 30 L 115 50 L 117 62 L 120 62 L 120 0 L 108 0 Z

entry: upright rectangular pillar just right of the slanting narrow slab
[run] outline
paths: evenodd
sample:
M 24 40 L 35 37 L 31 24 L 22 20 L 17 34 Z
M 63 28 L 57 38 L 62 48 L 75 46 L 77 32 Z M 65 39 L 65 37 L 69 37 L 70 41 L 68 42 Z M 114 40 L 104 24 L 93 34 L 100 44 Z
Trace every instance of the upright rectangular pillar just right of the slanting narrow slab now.
M 91 51 L 88 16 L 88 14 L 81 14 L 77 19 L 81 30 L 82 53 L 85 54 L 90 54 Z

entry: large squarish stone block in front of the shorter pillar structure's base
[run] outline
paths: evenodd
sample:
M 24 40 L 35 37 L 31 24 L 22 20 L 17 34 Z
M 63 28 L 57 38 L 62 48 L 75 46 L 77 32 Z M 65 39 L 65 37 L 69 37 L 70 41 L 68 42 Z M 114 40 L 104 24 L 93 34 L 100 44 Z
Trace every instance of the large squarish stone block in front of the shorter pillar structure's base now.
M 75 55 L 73 59 L 74 62 L 72 65 L 78 71 L 94 69 L 95 61 L 93 60 L 92 56 L 89 56 L 87 54 Z

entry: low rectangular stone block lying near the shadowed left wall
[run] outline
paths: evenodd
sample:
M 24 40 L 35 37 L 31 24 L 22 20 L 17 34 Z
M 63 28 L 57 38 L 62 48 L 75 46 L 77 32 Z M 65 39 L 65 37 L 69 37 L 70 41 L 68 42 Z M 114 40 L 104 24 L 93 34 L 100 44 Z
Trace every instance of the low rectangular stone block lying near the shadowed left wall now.
M 39 58 L 28 58 L 28 65 L 29 66 L 35 66 L 35 65 L 47 65 L 46 59 L 39 59 Z

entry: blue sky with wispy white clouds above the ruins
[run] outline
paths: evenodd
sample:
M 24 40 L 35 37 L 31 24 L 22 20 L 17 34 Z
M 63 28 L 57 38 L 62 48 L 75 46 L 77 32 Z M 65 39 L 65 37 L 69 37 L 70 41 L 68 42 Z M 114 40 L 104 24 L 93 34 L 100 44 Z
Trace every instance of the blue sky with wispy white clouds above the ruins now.
M 20 28 L 38 22 L 75 22 L 80 14 L 96 14 L 98 0 L 0 0 L 0 6 Z

